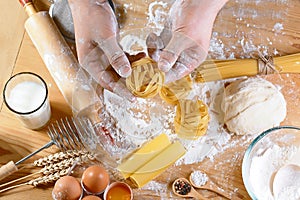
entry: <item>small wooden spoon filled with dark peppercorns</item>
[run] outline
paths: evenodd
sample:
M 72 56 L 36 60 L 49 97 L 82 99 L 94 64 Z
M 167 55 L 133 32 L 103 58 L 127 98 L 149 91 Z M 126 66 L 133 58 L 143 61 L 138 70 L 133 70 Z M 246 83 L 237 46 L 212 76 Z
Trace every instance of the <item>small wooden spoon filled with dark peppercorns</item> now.
M 193 197 L 199 200 L 208 200 L 198 193 L 191 183 L 185 178 L 178 178 L 173 182 L 172 190 L 179 197 Z

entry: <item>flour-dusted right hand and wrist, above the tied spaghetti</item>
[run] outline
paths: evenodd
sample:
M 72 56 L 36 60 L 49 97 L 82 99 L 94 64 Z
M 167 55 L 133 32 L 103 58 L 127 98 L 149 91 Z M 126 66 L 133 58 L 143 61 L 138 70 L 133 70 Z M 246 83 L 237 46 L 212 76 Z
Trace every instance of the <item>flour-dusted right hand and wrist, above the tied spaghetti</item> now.
M 166 83 L 188 75 L 205 60 L 213 23 L 227 1 L 176 0 L 162 34 L 148 37 L 149 53 L 166 72 Z

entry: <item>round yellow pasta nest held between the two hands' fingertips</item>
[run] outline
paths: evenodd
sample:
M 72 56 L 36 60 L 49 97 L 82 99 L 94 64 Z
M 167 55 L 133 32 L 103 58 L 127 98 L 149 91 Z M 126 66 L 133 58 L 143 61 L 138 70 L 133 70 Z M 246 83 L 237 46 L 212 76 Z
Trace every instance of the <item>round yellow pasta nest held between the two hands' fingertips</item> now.
M 126 78 L 129 91 L 138 97 L 154 97 L 165 81 L 165 74 L 161 72 L 157 63 L 151 58 L 142 58 L 132 63 L 132 73 Z

